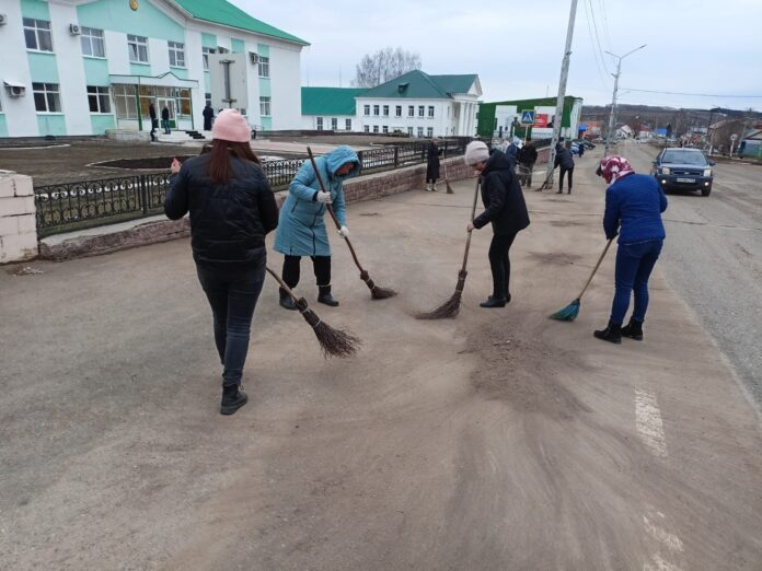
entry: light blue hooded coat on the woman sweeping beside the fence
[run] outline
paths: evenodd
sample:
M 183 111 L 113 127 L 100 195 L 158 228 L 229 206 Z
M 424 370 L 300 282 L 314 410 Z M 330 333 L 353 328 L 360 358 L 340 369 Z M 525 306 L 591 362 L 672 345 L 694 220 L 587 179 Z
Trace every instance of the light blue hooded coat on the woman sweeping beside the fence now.
M 342 165 L 354 163 L 355 168 L 346 176 L 338 176 Z M 333 210 L 342 225 L 347 223 L 346 202 L 344 200 L 344 180 L 357 176 L 360 162 L 357 153 L 349 147 L 337 147 L 330 153 L 315 159 L 318 171 L 331 193 Z M 325 205 L 318 201 L 320 183 L 308 160 L 288 187 L 288 198 L 280 207 L 278 230 L 275 233 L 275 249 L 289 256 L 330 256 L 331 244 L 325 230 Z M 333 220 L 328 221 L 333 225 Z

